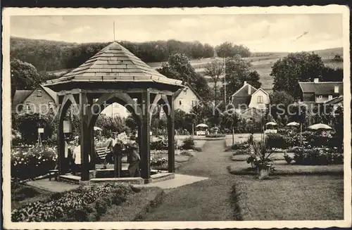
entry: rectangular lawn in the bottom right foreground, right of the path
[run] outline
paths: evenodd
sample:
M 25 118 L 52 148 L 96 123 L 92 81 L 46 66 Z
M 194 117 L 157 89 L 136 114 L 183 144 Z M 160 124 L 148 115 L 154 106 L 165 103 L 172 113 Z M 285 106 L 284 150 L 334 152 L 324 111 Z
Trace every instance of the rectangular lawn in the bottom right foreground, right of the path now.
M 232 196 L 244 220 L 344 219 L 342 176 L 234 176 Z

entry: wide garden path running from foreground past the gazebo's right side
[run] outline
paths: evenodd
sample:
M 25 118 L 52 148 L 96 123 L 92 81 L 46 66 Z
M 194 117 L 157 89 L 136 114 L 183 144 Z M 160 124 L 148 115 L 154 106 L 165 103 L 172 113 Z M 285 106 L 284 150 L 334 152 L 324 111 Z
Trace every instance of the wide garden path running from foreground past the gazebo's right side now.
M 178 174 L 209 179 L 165 190 L 163 203 L 151 210 L 144 221 L 225 221 L 235 220 L 231 188 L 234 177 L 227 172 L 231 152 L 224 152 L 225 140 L 207 141 L 203 152 L 185 164 Z

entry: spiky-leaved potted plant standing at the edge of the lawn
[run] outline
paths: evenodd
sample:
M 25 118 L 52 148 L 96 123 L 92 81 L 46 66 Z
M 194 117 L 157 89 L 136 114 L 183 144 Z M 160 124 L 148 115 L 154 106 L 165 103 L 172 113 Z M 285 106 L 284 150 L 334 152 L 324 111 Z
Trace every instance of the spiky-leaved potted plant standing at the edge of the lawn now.
M 253 142 L 253 154 L 247 159 L 258 170 L 259 179 L 266 179 L 269 177 L 272 165 L 272 151 L 265 147 L 263 141 Z

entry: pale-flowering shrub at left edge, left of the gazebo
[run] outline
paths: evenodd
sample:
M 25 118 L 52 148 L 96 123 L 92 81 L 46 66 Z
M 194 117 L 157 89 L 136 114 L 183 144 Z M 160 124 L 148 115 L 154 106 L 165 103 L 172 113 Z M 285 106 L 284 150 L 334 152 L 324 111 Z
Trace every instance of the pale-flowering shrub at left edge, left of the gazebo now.
M 33 179 L 46 174 L 56 166 L 57 154 L 53 148 L 37 146 L 29 151 L 11 151 L 11 177 L 17 180 Z

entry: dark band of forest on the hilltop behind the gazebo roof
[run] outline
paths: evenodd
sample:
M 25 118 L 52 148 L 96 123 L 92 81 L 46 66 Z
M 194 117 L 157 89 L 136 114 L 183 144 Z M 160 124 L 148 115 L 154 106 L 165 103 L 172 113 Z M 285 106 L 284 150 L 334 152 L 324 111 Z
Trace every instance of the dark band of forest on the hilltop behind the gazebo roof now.
M 199 41 L 182 42 L 176 40 L 130 42 L 119 41 L 122 46 L 146 63 L 164 62 L 172 53 L 184 53 L 189 58 L 210 58 L 214 48 Z M 11 37 L 11 58 L 34 65 L 38 71 L 52 71 L 76 68 L 94 56 L 109 43 L 68 43 L 38 39 Z

